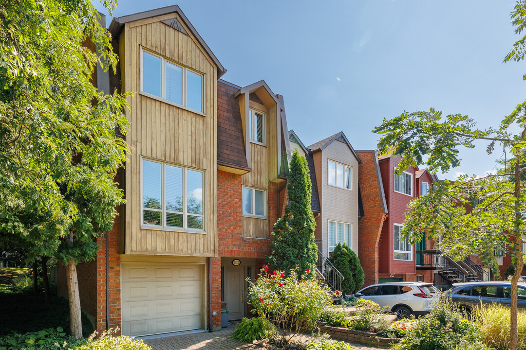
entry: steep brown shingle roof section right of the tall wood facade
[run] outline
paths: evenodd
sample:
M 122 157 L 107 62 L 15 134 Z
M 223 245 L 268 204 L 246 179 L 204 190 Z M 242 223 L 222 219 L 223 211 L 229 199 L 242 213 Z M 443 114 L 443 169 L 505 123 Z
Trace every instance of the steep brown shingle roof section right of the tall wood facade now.
M 217 161 L 248 168 L 237 91 L 239 87 L 217 81 Z

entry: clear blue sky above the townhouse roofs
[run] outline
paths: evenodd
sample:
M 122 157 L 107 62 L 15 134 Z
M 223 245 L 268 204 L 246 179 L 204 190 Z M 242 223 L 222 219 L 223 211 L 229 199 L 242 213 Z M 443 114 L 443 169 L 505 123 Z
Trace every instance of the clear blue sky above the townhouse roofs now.
M 223 79 L 265 79 L 284 96 L 306 145 L 343 131 L 355 149 L 373 149 L 383 118 L 430 107 L 498 126 L 526 98 L 523 62 L 502 63 L 518 38 L 513 0 L 120 0 L 114 15 L 173 4 L 227 68 Z M 480 143 L 439 177 L 483 175 L 501 156 Z

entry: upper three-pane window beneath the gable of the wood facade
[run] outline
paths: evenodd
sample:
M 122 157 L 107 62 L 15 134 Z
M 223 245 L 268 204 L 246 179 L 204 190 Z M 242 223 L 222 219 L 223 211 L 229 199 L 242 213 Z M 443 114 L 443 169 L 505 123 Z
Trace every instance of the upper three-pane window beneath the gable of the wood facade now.
M 205 75 L 141 48 L 140 92 L 205 114 Z

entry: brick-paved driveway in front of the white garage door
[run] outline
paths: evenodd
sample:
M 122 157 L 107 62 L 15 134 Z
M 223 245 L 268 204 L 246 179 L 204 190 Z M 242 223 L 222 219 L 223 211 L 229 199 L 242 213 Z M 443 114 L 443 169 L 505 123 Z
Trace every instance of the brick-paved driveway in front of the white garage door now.
M 229 325 L 219 332 L 203 332 L 193 334 L 174 335 L 163 338 L 147 339 L 144 342 L 153 350 L 247 350 L 262 349 L 259 346 L 241 343 L 230 336 L 234 332 L 234 325 Z M 367 345 L 351 344 L 356 350 L 379 350 Z

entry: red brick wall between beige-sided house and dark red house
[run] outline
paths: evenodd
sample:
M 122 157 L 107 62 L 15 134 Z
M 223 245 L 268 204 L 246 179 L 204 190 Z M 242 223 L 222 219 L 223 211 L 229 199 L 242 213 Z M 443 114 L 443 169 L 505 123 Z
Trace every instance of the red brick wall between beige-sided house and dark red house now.
M 383 213 L 374 154 L 359 152 L 358 182 L 365 216 L 358 219 L 358 257 L 365 273 L 364 286 L 378 282 L 378 244 L 382 231 Z

